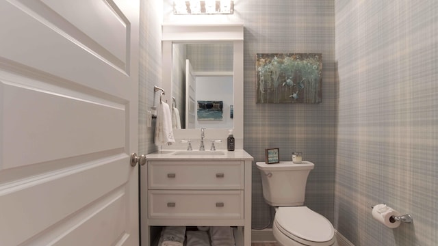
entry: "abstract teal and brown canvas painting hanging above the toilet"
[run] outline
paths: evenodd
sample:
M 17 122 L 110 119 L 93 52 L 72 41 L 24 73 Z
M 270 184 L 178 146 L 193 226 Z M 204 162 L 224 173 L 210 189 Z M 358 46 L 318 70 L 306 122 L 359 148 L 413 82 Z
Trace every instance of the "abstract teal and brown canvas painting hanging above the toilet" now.
M 257 53 L 257 103 L 321 102 L 322 54 Z

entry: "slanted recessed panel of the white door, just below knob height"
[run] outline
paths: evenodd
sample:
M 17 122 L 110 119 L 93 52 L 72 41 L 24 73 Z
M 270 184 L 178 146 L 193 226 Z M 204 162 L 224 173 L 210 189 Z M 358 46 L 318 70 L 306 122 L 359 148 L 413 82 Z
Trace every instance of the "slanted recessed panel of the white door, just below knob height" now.
M 21 238 L 29 238 L 50 226 L 56 227 L 58 221 L 73 223 L 82 213 L 91 215 L 96 213 L 93 210 L 100 209 L 99 206 L 94 205 L 94 203 L 99 204 L 98 198 L 102 194 L 114 196 L 112 192 L 127 182 L 127 169 L 123 167 L 127 164 L 125 161 L 125 156 L 120 155 L 115 160 L 81 163 L 81 166 L 76 165 L 57 170 L 56 173 L 26 178 L 4 187 L 0 197 L 1 209 L 14 213 L 4 215 L 3 218 L 8 223 L 4 225 L 3 232 L 16 231 L 13 234 L 2 235 L 1 241 L 18 245 Z M 126 192 L 123 190 L 118 193 L 125 195 Z M 89 211 L 90 209 L 92 210 Z M 118 223 L 127 222 L 123 211 L 116 214 L 122 215 Z

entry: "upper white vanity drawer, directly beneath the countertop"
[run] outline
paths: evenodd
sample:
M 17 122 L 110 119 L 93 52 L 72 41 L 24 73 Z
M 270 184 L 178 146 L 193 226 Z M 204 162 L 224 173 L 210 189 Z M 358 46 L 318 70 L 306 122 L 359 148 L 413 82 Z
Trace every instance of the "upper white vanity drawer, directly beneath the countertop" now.
M 150 161 L 149 189 L 244 189 L 241 161 Z

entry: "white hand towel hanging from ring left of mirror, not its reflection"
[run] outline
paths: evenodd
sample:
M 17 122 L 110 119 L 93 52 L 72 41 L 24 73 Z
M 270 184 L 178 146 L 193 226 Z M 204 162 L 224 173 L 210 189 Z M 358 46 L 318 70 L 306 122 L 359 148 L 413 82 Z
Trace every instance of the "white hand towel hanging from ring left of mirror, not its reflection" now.
M 160 102 L 157 109 L 157 124 L 155 125 L 155 145 L 175 143 L 172 131 L 172 115 L 170 114 L 169 105 L 166 102 Z

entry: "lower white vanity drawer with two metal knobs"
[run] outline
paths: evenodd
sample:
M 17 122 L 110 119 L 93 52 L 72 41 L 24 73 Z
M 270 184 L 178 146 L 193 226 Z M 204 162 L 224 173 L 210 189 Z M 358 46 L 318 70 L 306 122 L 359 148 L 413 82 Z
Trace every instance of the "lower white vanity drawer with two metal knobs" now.
M 148 191 L 151 219 L 243 219 L 243 191 Z

